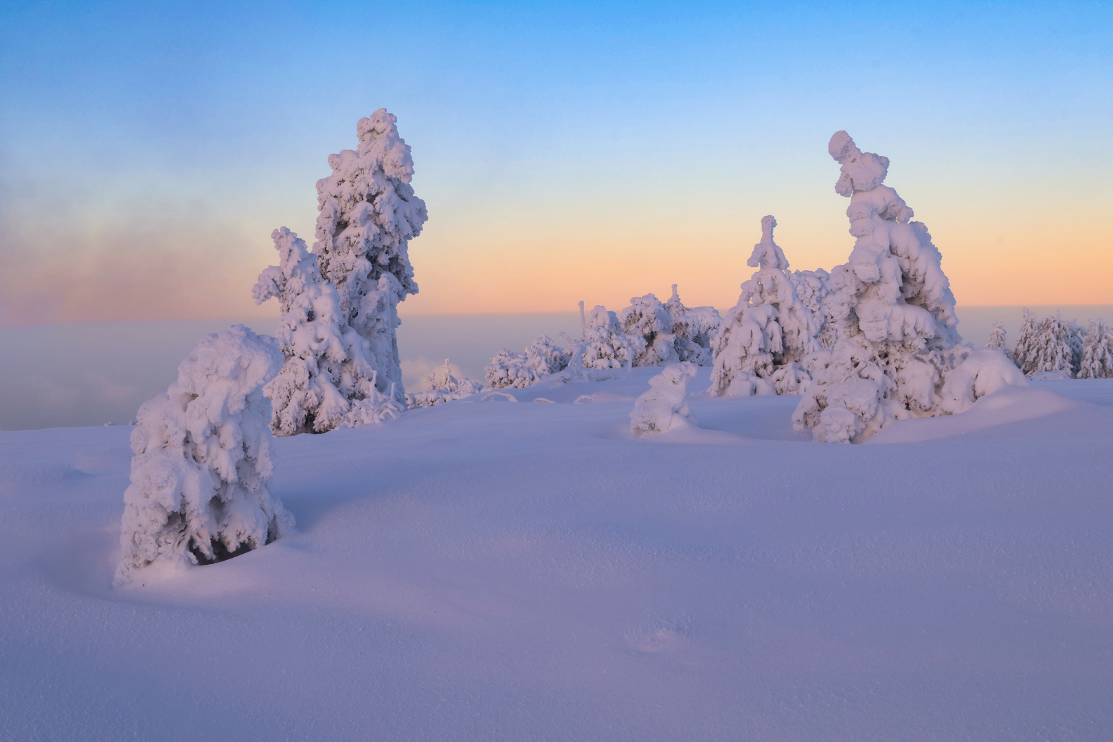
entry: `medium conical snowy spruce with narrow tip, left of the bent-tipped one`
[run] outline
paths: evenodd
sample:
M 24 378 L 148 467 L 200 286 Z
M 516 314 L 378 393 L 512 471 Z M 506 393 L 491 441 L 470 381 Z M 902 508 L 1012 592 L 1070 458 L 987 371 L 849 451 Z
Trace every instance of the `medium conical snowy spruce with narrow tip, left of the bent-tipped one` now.
M 772 239 L 777 220 L 761 219 L 761 241 L 747 261 L 757 273 L 742 284 L 711 345 L 711 394 L 800 394 L 808 374 L 800 366 L 819 349 L 816 320 L 800 300 L 788 260 Z

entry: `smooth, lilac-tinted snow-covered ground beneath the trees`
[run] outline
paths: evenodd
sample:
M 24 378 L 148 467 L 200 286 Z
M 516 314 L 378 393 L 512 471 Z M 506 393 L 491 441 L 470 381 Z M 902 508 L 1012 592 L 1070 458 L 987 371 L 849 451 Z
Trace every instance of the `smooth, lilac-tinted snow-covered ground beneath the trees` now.
M 1113 739 L 1113 379 L 636 439 L 658 370 L 277 439 L 292 536 L 126 588 L 130 428 L 0 433 L 0 739 Z

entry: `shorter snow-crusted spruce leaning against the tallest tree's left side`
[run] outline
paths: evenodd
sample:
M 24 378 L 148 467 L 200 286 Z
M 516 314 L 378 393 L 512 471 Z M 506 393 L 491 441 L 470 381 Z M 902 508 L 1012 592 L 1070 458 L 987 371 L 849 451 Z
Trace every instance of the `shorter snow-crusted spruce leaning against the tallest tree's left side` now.
M 275 435 L 325 433 L 392 419 L 402 412 L 376 387 L 371 348 L 344 320 L 336 287 L 324 280 L 305 240 L 283 227 L 270 234 L 278 265 L 259 274 L 253 295 L 277 298 L 282 372 L 265 387 Z

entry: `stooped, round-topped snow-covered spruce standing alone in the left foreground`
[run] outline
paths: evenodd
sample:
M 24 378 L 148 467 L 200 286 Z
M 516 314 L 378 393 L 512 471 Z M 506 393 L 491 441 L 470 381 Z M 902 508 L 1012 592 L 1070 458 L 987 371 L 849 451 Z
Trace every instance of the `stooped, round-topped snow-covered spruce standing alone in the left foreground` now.
M 203 339 L 166 393 L 139 408 L 116 584 L 154 563 L 235 556 L 293 527 L 267 489 L 270 405 L 263 385 L 282 364 L 274 338 L 233 325 Z

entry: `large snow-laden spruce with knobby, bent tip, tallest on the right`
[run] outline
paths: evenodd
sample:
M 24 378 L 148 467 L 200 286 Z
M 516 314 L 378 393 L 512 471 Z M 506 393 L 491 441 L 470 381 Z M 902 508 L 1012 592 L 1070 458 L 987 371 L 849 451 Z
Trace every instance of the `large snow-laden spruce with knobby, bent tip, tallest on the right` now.
M 955 298 L 927 227 L 881 185 L 888 158 L 863 152 L 845 131 L 828 151 L 841 166 L 835 190 L 850 198 L 856 238 L 838 296 L 828 297 L 847 324 L 833 349 L 809 357 L 812 382 L 792 422 L 817 441 L 848 443 L 893 419 L 943 414 L 945 377 L 968 346 L 958 352 Z

